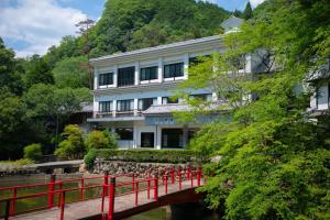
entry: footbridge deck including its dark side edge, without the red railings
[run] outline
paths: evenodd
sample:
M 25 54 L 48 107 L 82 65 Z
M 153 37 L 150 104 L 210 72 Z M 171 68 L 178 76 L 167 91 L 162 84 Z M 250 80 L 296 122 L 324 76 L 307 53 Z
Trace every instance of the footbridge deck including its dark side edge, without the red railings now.
M 194 183 L 196 186 L 196 183 Z M 114 197 L 114 219 L 121 219 L 134 213 L 145 211 L 155 207 L 164 206 L 168 204 L 168 199 L 172 197 L 182 197 L 182 194 L 193 195 L 195 187 L 191 188 L 191 182 L 185 180 L 182 183 L 182 190 L 178 188 L 178 184 L 168 184 L 167 195 L 165 195 L 165 187 L 158 186 L 158 199 L 154 200 L 154 191 L 151 189 L 150 199 L 147 199 L 147 191 L 140 191 L 138 196 L 139 205 L 135 206 L 135 194 L 129 194 L 120 197 Z M 180 195 L 179 195 L 180 194 Z M 167 200 L 166 200 L 167 199 Z M 177 198 L 179 199 L 179 198 Z M 105 199 L 105 212 L 108 212 L 108 197 Z M 173 200 L 173 198 L 172 198 Z M 25 215 L 11 217 L 13 220 L 57 220 L 59 219 L 61 210 L 53 208 L 51 210 L 36 211 Z M 65 205 L 64 211 L 65 220 L 73 219 L 101 219 L 101 199 L 92 199 L 86 201 L 79 201 Z

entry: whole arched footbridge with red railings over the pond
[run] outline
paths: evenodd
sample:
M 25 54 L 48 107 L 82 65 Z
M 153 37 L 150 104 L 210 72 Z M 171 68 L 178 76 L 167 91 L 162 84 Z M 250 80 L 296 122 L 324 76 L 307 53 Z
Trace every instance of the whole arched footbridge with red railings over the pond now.
M 202 184 L 206 184 L 206 177 L 201 168 L 172 168 L 147 178 L 106 173 L 103 176 L 55 180 L 53 175 L 47 184 L 0 188 L 11 195 L 0 199 L 0 218 L 122 219 L 169 204 L 197 201 L 202 195 L 196 194 L 195 189 Z M 20 190 L 29 189 L 43 193 L 18 196 Z M 22 209 L 24 201 L 34 206 Z

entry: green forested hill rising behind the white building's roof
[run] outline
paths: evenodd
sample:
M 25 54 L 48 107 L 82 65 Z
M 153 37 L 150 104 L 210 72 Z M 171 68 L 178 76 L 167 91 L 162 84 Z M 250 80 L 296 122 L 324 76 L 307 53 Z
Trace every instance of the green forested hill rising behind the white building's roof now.
M 220 23 L 229 15 L 216 4 L 195 0 L 108 0 L 89 33 L 90 56 L 221 33 Z M 82 44 L 81 37 L 65 37 L 47 56 L 54 61 L 80 55 Z

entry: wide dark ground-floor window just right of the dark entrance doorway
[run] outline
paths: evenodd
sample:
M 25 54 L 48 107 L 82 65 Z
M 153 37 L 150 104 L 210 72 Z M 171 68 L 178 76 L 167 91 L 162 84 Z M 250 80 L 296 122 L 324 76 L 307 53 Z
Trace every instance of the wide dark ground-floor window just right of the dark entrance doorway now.
M 162 147 L 182 148 L 184 147 L 183 129 L 163 129 L 162 130 Z

